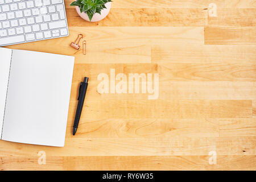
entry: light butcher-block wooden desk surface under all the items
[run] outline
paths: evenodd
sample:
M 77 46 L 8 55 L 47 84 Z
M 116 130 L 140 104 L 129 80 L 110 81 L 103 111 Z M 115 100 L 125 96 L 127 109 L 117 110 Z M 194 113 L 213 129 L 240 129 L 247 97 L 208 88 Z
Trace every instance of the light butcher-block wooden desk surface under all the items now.
M 207 0 L 114 0 L 98 23 L 82 20 L 71 2 L 68 38 L 8 46 L 76 57 L 65 147 L 1 140 L 1 170 L 256 169 L 255 0 L 214 1 L 217 17 Z M 79 33 L 86 56 L 69 47 Z M 98 93 L 97 76 L 111 68 L 159 73 L 158 99 Z M 73 137 L 84 76 L 89 89 Z

